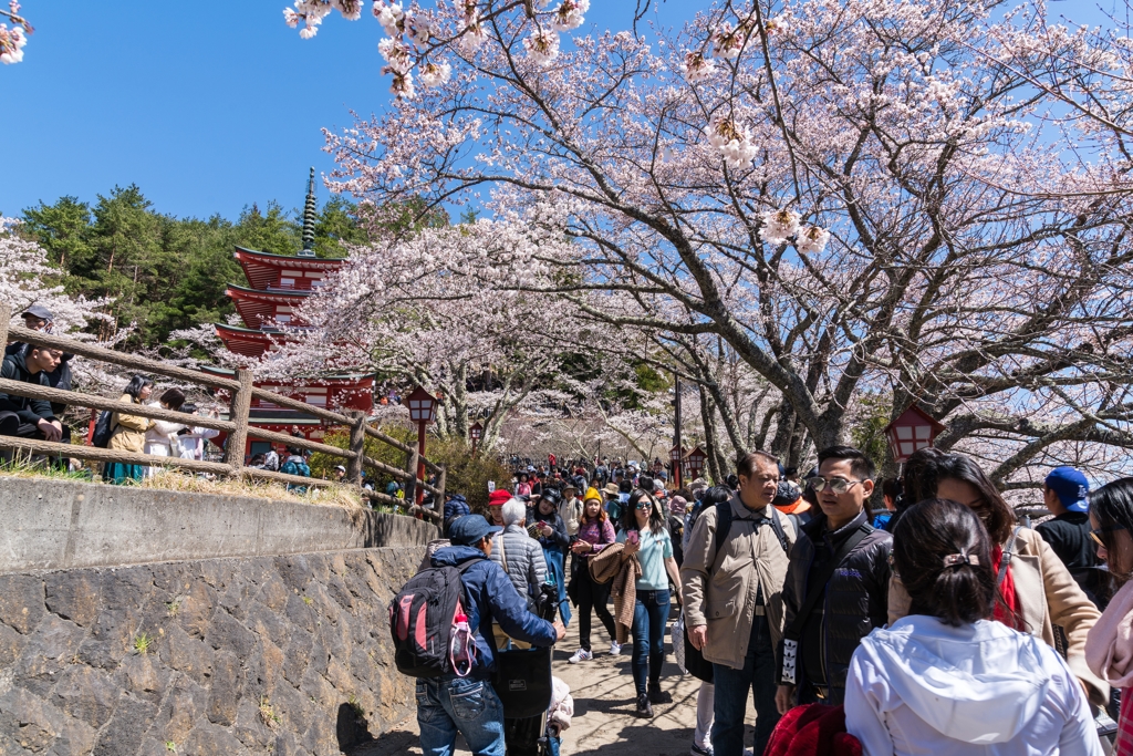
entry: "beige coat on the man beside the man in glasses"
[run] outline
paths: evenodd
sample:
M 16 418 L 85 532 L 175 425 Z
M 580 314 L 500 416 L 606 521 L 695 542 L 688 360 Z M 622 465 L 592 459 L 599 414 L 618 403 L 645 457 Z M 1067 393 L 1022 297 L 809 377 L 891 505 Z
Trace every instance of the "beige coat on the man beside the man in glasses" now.
M 708 626 L 704 656 L 715 664 L 732 669 L 743 666 L 751 638 L 757 588 L 763 588 L 772 646 L 777 648 L 783 636 L 783 581 L 786 579 L 787 554 L 772 527 L 758 527 L 765 517 L 777 517 L 783 525 L 789 546 L 795 533 L 791 520 L 774 507 L 751 511 L 734 496 L 732 527 L 719 554 L 713 560 L 716 534 L 716 508 L 705 510 L 692 528 L 681 566 L 681 597 L 684 622 L 695 628 Z M 712 563 L 709 563 L 712 560 Z

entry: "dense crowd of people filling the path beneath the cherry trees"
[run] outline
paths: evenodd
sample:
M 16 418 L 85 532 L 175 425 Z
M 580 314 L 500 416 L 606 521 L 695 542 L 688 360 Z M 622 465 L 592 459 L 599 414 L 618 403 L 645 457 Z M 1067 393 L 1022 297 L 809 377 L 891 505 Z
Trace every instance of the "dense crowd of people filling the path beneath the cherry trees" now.
M 974 460 L 931 448 L 894 481 L 832 447 L 804 477 L 757 451 L 721 485 L 680 490 L 637 465 L 512 461 L 485 516 L 446 507 L 450 535 L 483 520 L 480 547 L 529 613 L 555 586 L 560 621 L 571 606 L 578 621 L 569 663 L 599 653 L 594 615 L 611 655 L 632 644 L 641 717 L 671 700 L 666 628 L 683 628 L 693 756 L 744 754 L 749 693 L 753 754 L 825 712 L 864 754 L 1094 755 L 1108 738 L 1133 754 L 1133 478 L 1090 493 L 1080 470 L 1050 470 L 1032 529 Z M 540 643 L 513 620 L 488 623 L 496 648 Z M 491 664 L 482 682 L 488 699 Z M 425 753 L 445 744 L 423 731 Z

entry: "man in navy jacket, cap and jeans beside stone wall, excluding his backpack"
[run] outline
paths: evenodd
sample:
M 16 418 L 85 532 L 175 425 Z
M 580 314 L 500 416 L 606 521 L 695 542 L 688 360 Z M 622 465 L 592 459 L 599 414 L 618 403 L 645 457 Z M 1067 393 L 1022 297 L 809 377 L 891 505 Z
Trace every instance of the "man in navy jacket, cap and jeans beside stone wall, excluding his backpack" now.
M 433 567 L 460 567 L 476 560 L 461 579 L 471 605 L 466 608 L 476 640 L 476 659 L 468 677 L 443 674 L 417 680 L 417 723 L 424 756 L 450 756 L 457 732 L 475 756 L 504 756 L 503 705 L 492 688 L 495 648 L 493 619 L 512 638 L 534 646 L 550 646 L 566 635 L 562 622 L 539 619 L 527 611 L 527 600 L 516 593 L 511 579 L 487 559 L 492 536 L 502 528 L 479 515 L 465 515 L 449 526 L 451 546 L 433 554 Z

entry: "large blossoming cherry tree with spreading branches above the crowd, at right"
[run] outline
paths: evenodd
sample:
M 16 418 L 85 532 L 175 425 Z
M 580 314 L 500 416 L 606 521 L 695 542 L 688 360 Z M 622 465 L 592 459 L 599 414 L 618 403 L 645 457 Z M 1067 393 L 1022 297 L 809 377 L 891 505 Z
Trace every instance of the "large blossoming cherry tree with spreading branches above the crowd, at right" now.
M 333 188 L 480 203 L 522 231 L 472 250 L 493 291 L 690 368 L 718 339 L 778 397 L 781 452 L 846 440 L 863 392 L 1005 485 L 1133 444 L 1127 40 L 1030 2 L 724 1 L 651 37 L 550 5 L 375 2 L 397 99 L 327 133 Z

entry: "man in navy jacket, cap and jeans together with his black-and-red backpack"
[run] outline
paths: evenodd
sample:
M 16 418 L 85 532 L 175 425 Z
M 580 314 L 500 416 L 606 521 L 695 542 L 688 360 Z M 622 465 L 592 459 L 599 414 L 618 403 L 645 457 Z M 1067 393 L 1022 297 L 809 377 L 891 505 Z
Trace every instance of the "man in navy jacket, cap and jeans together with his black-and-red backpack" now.
M 398 608 L 404 605 L 404 615 L 414 617 L 412 601 L 407 600 L 411 586 L 438 577 L 436 570 L 445 568 L 459 571 L 462 588 L 457 614 L 442 617 L 434 627 L 416 630 L 404 628 L 406 639 L 411 640 L 419 632 L 435 636 L 438 643 L 426 643 L 427 647 L 452 649 L 442 651 L 442 657 L 425 660 L 433 664 L 427 674 L 418 674 L 417 723 L 420 727 L 421 751 L 425 756 L 449 756 L 453 753 L 457 733 L 465 737 L 468 748 L 477 756 L 504 755 L 503 706 L 492 687 L 495 670 L 495 647 L 492 643 L 492 622 L 497 622 L 512 638 L 535 646 L 551 646 L 566 635 L 562 622 L 554 623 L 539 619 L 527 611 L 527 600 L 516 593 L 503 569 L 488 557 L 492 554 L 492 536 L 502 528 L 487 524 L 479 515 L 458 517 L 449 526 L 451 546 L 438 549 L 433 554 L 432 570 L 418 574 L 394 598 L 394 660 L 398 669 L 412 674 L 410 666 L 420 660 L 409 660 L 409 652 L 402 652 L 398 643 Z M 428 575 L 427 575 L 428 574 Z M 451 577 L 451 572 L 445 576 Z M 449 583 L 448 585 L 453 585 Z M 449 604 L 442 597 L 431 605 Z M 466 623 L 462 626 L 462 623 Z M 461 631 L 471 630 L 471 644 L 461 645 Z M 412 646 L 411 643 L 404 644 Z M 404 654 L 404 655 L 403 655 Z M 457 668 L 453 668 L 453 663 Z M 438 672 L 438 673 L 436 673 Z

